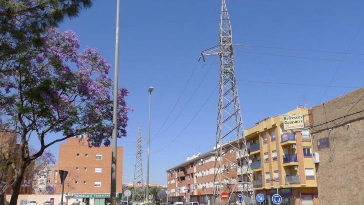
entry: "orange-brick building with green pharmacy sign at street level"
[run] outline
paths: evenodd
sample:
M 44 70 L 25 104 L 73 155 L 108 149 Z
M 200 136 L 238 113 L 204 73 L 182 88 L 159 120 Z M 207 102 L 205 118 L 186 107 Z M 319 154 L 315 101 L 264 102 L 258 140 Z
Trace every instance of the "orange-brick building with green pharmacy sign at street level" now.
M 111 146 L 88 147 L 87 137 L 78 136 L 59 146 L 58 171 L 66 170 L 64 192 L 69 203 L 104 205 L 110 200 Z M 57 170 L 54 170 L 57 171 Z M 59 175 L 54 172 L 55 176 Z M 122 193 L 123 147 L 117 147 L 116 193 Z M 59 176 L 56 192 L 61 192 Z M 52 180 L 52 178 L 50 178 Z M 121 194 L 117 194 L 117 196 Z

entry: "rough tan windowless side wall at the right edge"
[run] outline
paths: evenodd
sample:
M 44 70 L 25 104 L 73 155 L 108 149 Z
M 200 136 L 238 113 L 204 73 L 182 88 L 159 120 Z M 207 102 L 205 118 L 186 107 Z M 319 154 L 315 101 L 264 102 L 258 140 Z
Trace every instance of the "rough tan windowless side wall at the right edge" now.
M 320 204 L 364 204 L 363 110 L 364 88 L 310 109 L 313 152 L 320 157 L 316 164 Z M 330 147 L 318 150 L 317 140 L 325 137 Z

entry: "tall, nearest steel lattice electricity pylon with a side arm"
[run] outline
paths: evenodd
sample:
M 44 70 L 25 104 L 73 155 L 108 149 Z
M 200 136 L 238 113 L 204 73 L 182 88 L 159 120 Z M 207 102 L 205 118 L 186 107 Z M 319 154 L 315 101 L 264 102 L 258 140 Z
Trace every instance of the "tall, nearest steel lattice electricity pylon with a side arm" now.
M 206 55 L 220 57 L 213 205 L 236 203 L 239 194 L 244 196 L 245 204 L 255 204 L 234 71 L 232 29 L 225 0 L 221 5 L 219 45 L 202 51 L 203 61 Z M 231 157 L 232 152 L 236 153 L 236 157 Z M 221 199 L 223 192 L 229 194 L 227 200 Z

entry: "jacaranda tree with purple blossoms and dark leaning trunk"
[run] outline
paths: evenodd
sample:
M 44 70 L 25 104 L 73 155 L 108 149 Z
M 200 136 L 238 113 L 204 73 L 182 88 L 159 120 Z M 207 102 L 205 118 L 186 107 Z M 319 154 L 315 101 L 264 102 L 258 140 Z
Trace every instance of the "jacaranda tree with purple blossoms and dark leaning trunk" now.
M 46 148 L 72 136 L 87 134 L 90 146 L 110 145 L 112 81 L 110 64 L 100 53 L 80 43 L 72 31 L 48 28 L 39 45 L 11 55 L 0 65 L 0 131 L 20 138 L 21 163 L 16 169 L 10 204 L 17 202 L 24 171 Z M 25 39 L 26 40 L 26 39 Z M 126 136 L 127 113 L 118 92 L 118 137 Z M 29 152 L 29 139 L 39 151 Z

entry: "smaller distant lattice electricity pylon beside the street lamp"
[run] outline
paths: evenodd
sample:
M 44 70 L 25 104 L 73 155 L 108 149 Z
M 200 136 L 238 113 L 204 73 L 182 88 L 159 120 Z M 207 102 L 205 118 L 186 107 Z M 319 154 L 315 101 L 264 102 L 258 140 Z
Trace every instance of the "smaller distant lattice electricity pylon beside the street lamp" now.
M 142 160 L 142 128 L 138 124 L 137 135 L 137 155 L 135 156 L 135 168 L 134 168 L 134 181 L 133 181 L 133 196 L 132 201 L 144 201 L 145 191 L 143 182 L 143 160 Z M 140 184 L 141 187 L 137 187 Z

